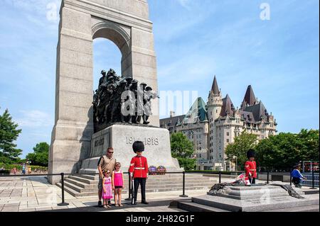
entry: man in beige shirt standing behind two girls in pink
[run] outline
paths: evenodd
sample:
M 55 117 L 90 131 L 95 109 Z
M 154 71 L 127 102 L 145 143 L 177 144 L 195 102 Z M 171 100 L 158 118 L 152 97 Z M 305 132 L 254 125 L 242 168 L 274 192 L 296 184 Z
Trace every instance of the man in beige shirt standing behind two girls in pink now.
M 100 157 L 98 163 L 97 163 L 97 169 L 99 171 L 99 183 L 98 183 L 98 206 L 102 207 L 102 180 L 105 177 L 105 172 L 108 170 L 112 172 L 114 170 L 115 163 L 117 162 L 116 159 L 112 157 L 113 155 L 113 148 L 109 147 L 107 149 L 107 153 Z M 108 204 L 110 205 L 110 200 L 108 201 Z

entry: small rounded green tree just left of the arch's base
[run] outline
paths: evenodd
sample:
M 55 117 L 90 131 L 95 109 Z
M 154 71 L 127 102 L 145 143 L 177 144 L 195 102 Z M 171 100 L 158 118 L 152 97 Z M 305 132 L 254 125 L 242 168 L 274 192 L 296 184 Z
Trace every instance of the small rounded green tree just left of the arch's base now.
M 46 142 L 40 142 L 33 147 L 33 153 L 26 155 L 32 164 L 38 166 L 48 166 L 49 145 Z

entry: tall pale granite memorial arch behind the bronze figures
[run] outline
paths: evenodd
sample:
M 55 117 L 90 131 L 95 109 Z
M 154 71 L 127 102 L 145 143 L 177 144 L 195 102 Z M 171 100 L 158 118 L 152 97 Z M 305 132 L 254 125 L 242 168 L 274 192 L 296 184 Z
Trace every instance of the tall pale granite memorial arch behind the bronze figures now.
M 57 47 L 55 125 L 49 173 L 79 170 L 93 134 L 92 91 L 95 38 L 111 40 L 122 53 L 122 72 L 157 91 L 156 55 L 146 0 L 63 0 Z M 105 65 L 104 69 L 109 69 Z M 117 72 L 120 74 L 120 72 Z M 159 126 L 158 101 L 150 125 Z M 55 183 L 58 176 L 49 177 Z

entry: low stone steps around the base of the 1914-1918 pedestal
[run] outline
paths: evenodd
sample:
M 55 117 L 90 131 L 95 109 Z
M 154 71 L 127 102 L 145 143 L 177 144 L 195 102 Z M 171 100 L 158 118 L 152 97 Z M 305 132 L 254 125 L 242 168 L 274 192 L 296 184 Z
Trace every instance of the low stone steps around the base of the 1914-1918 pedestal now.
M 124 190 L 122 194 L 128 194 L 129 178 L 124 174 Z M 202 174 L 186 174 L 185 189 L 188 190 L 209 190 L 217 179 Z M 65 178 L 65 191 L 72 196 L 97 196 L 98 176 L 78 175 Z M 56 183 L 61 188 L 61 183 Z M 182 174 L 149 175 L 146 181 L 146 193 L 161 191 L 181 191 L 183 188 Z

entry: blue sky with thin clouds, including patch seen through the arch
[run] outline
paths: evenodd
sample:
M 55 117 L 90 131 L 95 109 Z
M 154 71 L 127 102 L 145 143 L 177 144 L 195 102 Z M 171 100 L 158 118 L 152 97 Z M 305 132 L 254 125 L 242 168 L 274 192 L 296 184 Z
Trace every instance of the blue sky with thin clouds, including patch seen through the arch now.
M 262 3 L 270 20 L 260 19 Z M 50 143 L 59 7 L 59 0 L 0 6 L 0 113 L 9 108 L 20 125 L 22 157 L 37 142 Z M 235 106 L 252 85 L 279 132 L 319 129 L 318 0 L 149 0 L 149 13 L 159 90 L 198 91 L 207 101 L 216 75 Z M 95 86 L 101 69 L 120 74 L 120 59 L 113 43 L 95 40 Z

